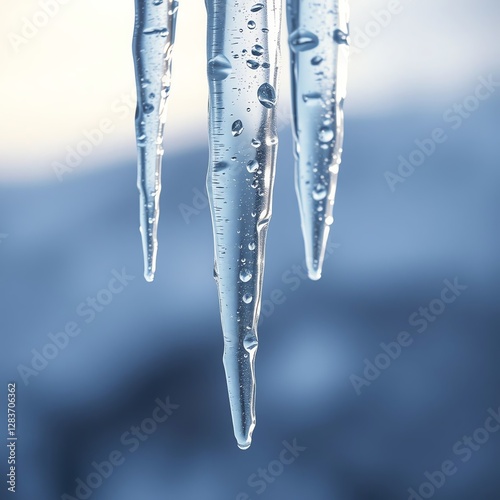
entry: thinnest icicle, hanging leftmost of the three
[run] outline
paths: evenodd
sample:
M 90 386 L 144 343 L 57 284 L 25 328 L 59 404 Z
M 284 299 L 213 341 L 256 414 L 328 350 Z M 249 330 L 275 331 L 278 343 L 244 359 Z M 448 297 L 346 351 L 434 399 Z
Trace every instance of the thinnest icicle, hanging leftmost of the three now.
M 144 277 L 147 281 L 153 281 L 156 268 L 163 129 L 170 92 L 177 7 L 175 0 L 135 0 L 133 51 L 137 85 L 137 186 L 140 193 Z

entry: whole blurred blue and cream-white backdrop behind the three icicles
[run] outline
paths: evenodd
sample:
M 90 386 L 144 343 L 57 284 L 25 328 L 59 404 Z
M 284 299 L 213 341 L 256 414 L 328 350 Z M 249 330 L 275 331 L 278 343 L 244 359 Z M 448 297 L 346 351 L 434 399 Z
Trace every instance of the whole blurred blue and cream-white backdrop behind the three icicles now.
M 133 2 L 2 2 L 0 422 L 6 436 L 15 382 L 17 498 L 500 498 L 500 4 L 356 0 L 351 11 L 344 156 L 319 282 L 303 279 L 283 46 L 257 428 L 242 452 L 205 195 L 204 3 L 179 9 L 148 284 Z M 86 149 L 89 137 L 100 139 Z M 402 331 L 411 345 L 380 356 Z M 167 397 L 178 407 L 156 423 Z M 453 474 L 436 474 L 448 460 Z

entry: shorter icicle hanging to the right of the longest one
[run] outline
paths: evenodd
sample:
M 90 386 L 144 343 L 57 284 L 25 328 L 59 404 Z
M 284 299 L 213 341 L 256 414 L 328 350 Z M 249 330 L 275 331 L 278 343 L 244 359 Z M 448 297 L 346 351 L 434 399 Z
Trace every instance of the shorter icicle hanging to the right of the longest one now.
M 321 277 L 344 135 L 347 0 L 287 0 L 295 183 L 309 277 Z

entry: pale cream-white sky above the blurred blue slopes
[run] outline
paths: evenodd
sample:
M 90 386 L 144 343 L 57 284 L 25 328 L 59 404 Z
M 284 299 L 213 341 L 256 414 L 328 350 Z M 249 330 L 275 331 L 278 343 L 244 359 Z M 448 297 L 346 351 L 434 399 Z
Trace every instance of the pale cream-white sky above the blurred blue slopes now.
M 377 15 L 389 7 L 390 18 Z M 467 95 L 498 66 L 499 12 L 492 0 L 351 0 L 346 119 L 444 110 Z M 112 130 L 85 168 L 135 157 L 133 16 L 133 0 L 0 3 L 0 180 L 54 178 L 52 163 L 103 119 Z M 203 0 L 180 1 L 167 152 L 206 144 L 205 22 Z M 280 98 L 289 107 L 285 44 L 282 52 Z

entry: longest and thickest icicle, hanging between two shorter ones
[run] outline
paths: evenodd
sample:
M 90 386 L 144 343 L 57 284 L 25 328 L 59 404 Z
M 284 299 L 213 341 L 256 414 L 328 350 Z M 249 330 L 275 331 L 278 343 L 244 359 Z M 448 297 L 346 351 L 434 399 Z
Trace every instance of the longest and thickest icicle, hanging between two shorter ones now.
M 258 0 L 257 0 L 258 1 Z M 238 446 L 255 427 L 255 354 L 278 138 L 280 0 L 207 0 L 210 165 L 224 367 Z

